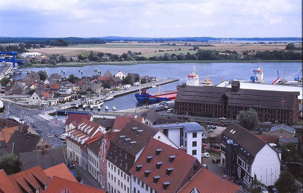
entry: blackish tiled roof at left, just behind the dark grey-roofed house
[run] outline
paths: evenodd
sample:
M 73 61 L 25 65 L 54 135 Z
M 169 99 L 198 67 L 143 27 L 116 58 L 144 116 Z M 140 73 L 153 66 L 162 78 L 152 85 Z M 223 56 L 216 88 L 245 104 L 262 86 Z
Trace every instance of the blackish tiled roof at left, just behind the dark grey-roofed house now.
M 7 143 L 14 143 L 14 154 L 18 155 L 23 152 L 34 151 L 41 138 L 42 136 L 39 135 L 32 133 L 25 134 L 22 131 L 16 130 Z

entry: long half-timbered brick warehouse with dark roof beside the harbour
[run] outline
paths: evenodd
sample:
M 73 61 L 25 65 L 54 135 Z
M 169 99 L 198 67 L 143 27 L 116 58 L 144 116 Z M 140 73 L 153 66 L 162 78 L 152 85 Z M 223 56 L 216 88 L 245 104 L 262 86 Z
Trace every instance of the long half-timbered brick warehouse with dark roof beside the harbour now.
M 175 113 L 193 116 L 237 119 L 241 110 L 253 108 L 259 121 L 293 122 L 299 117 L 299 92 L 241 89 L 239 81 L 231 88 L 178 85 Z

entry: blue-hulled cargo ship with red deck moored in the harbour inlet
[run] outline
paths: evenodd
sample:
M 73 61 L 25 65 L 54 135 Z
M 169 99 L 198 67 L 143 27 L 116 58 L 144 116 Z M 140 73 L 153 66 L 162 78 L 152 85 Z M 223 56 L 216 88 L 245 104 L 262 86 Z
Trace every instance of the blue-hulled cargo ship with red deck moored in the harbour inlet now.
M 139 90 L 139 93 L 135 94 L 135 97 L 138 101 L 138 104 L 141 106 L 142 104 L 155 104 L 160 103 L 161 101 L 170 101 L 174 100 L 177 96 L 178 90 L 168 90 L 158 93 L 146 93 L 146 89 L 143 88 Z

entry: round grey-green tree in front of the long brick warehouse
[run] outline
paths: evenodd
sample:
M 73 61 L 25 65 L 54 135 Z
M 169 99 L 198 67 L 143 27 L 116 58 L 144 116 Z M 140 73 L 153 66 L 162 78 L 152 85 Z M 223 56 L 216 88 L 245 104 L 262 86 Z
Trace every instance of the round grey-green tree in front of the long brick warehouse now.
M 259 125 L 258 114 L 252 108 L 249 108 L 247 111 L 240 111 L 239 117 L 240 124 L 248 130 Z

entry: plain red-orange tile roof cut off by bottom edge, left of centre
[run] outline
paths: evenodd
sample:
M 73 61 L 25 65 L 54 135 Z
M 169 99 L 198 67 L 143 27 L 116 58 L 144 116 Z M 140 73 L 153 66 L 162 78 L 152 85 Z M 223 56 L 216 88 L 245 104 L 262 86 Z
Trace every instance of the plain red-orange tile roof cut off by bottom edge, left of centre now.
M 104 190 L 93 188 L 78 182 L 69 181 L 54 176 L 43 193 L 63 193 L 63 192 L 81 192 L 81 193 L 105 193 Z

